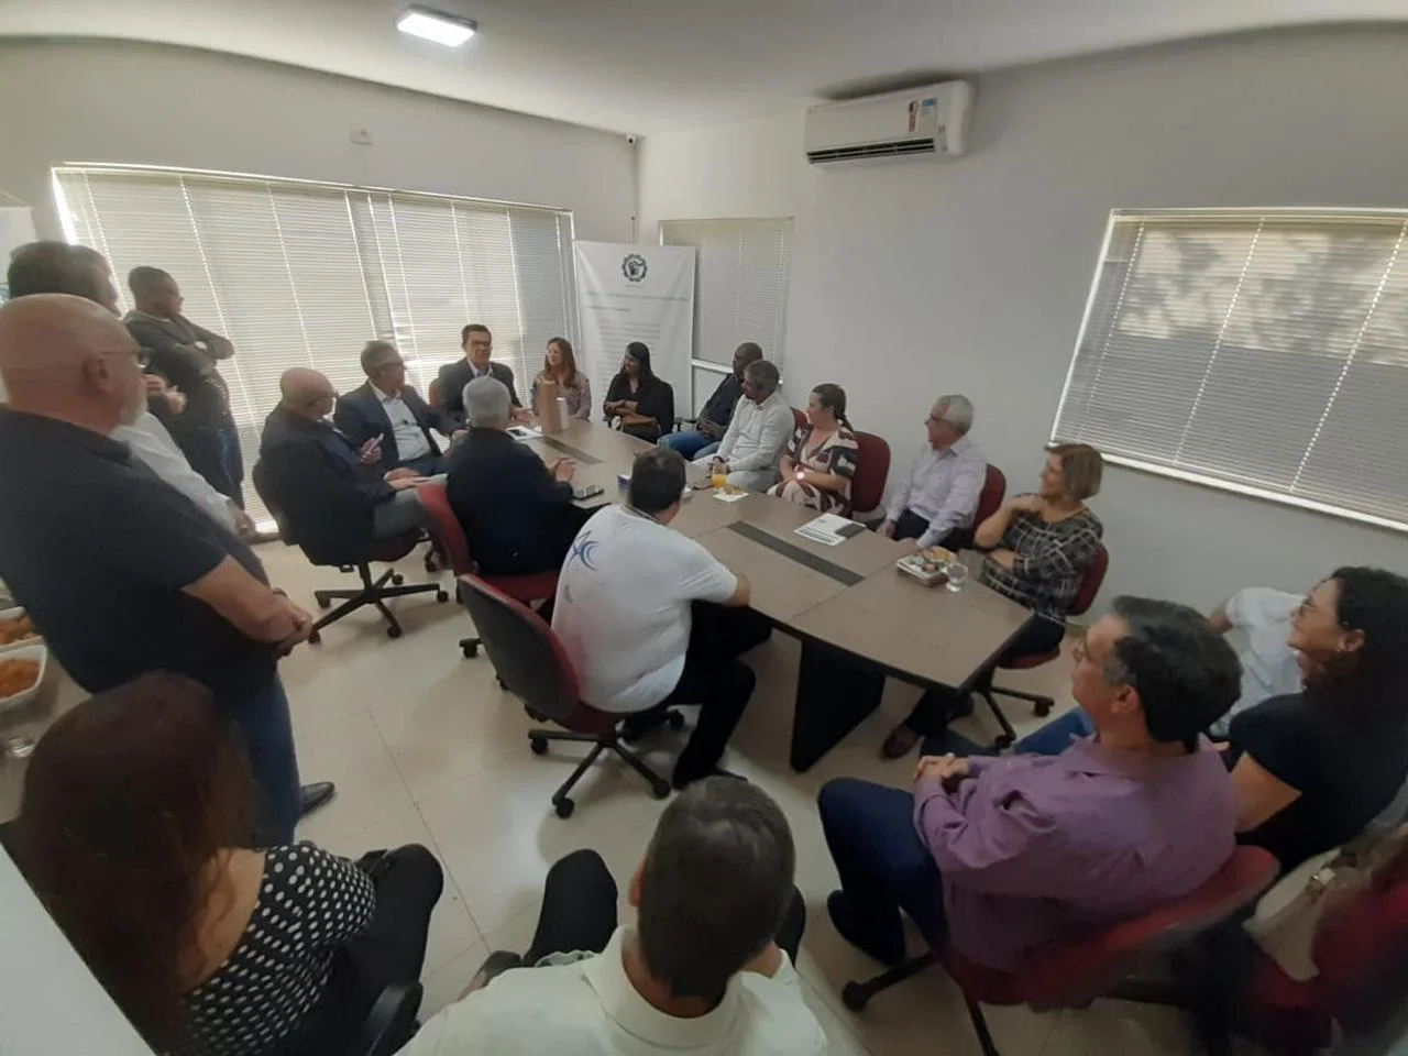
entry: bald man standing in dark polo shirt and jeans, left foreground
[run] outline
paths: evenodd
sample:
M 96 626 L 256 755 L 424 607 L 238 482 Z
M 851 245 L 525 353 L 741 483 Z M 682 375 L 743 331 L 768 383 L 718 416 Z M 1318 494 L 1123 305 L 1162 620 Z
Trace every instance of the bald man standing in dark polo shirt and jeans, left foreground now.
M 208 686 L 244 734 L 265 835 L 290 842 L 303 801 L 275 663 L 313 618 L 110 439 L 146 406 L 137 342 L 110 311 L 68 294 L 10 301 L 0 376 L 0 576 L 86 690 L 161 669 Z

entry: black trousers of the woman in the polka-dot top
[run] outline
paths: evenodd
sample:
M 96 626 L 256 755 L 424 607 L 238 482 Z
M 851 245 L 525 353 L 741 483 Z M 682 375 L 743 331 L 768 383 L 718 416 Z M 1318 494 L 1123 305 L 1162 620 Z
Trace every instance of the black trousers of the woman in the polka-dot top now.
M 380 993 L 421 977 L 431 911 L 445 887 L 439 862 L 411 843 L 366 855 L 358 866 L 376 887 L 372 921 L 334 955 L 318 1004 L 270 1056 L 349 1052 Z

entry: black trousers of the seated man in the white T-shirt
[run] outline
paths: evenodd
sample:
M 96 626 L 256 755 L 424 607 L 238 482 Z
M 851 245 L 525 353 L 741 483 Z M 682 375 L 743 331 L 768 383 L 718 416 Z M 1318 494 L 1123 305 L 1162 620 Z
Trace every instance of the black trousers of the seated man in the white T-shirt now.
M 669 697 L 641 714 L 649 727 L 650 717 L 667 708 L 700 705 L 694 732 L 674 763 L 676 784 L 704 777 L 718 766 L 758 681 L 752 667 L 738 658 L 770 634 L 772 624 L 752 610 L 694 603 L 684 673 Z

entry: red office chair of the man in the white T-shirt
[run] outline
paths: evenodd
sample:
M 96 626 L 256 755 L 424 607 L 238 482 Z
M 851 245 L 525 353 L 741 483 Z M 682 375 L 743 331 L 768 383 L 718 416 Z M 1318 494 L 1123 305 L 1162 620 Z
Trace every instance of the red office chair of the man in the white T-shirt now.
M 655 798 L 663 800 L 670 794 L 670 783 L 621 742 L 621 727 L 628 715 L 597 711 L 582 701 L 572 660 L 558 635 L 536 612 L 479 576 L 459 577 L 459 597 L 483 635 L 484 652 L 504 689 L 521 697 L 535 718 L 563 727 L 529 729 L 528 743 L 534 755 L 546 755 L 551 741 L 582 741 L 591 745 L 586 759 L 577 763 L 572 776 L 552 794 L 552 805 L 559 818 L 572 817 L 576 803 L 567 793 L 597 756 L 608 749 L 645 777 Z M 676 711 L 670 711 L 666 719 L 676 729 L 684 724 Z

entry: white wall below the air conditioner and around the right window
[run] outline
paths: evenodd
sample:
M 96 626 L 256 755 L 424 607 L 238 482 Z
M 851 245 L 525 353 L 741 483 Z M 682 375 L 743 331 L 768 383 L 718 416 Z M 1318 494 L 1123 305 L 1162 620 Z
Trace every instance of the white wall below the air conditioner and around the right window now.
M 1408 206 L 1405 46 L 1391 28 L 1267 34 L 983 76 L 972 152 L 949 162 L 818 172 L 801 113 L 650 137 L 642 239 L 660 220 L 797 217 L 793 401 L 841 382 L 904 472 L 932 397 L 963 391 L 976 439 L 1025 490 L 1110 210 Z M 1408 572 L 1402 535 L 1132 470 L 1111 467 L 1093 505 L 1111 546 L 1105 601 L 1208 607 L 1338 563 Z

